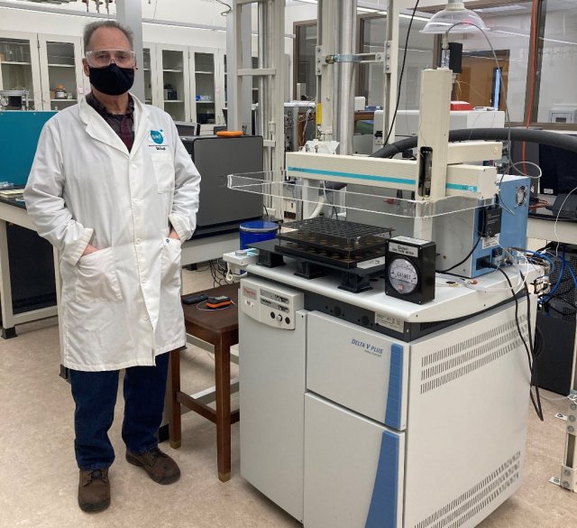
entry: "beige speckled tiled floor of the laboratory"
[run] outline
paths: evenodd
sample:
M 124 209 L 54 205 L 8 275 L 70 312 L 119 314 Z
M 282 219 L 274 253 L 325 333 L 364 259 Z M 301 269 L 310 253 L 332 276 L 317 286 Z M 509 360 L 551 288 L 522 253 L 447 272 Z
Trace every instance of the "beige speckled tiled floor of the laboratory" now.
M 186 292 L 212 286 L 207 272 L 184 276 Z M 182 478 L 172 486 L 153 483 L 124 460 L 121 397 L 111 431 L 117 451 L 110 472 L 112 505 L 101 514 L 81 512 L 73 404 L 69 384 L 58 376 L 56 321 L 24 325 L 18 334 L 0 341 L 0 528 L 299 526 L 239 475 L 238 424 L 233 426 L 233 477 L 228 483 L 216 477 L 215 426 L 192 412 L 183 417 L 182 447 L 162 446 L 178 461 Z M 212 359 L 206 352 L 190 348 L 182 364 L 185 390 L 210 384 Z M 577 496 L 548 482 L 559 473 L 564 449 L 566 422 L 554 414 L 566 405 L 546 400 L 544 409 L 545 423 L 530 412 L 523 486 L 482 528 L 577 528 Z

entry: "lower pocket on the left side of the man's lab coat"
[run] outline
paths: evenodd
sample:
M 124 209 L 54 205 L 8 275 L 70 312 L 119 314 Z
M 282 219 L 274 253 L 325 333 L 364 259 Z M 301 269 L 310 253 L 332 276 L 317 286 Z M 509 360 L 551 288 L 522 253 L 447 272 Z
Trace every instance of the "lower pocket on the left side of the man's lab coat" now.
M 122 301 L 112 248 L 100 249 L 80 257 L 77 264 L 78 302 Z

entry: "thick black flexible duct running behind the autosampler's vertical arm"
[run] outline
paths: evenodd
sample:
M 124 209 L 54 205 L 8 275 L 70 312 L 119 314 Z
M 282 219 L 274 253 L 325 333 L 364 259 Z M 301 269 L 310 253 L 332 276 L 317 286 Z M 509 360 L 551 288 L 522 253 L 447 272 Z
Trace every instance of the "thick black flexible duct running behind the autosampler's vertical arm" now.
M 524 141 L 527 143 L 546 144 L 560 149 L 577 153 L 577 138 L 566 134 L 555 134 L 545 130 L 531 130 L 527 128 L 463 128 L 449 132 L 449 142 L 456 141 Z M 402 153 L 417 146 L 417 136 L 401 139 L 391 143 L 376 153 L 371 158 L 392 158 L 395 154 Z

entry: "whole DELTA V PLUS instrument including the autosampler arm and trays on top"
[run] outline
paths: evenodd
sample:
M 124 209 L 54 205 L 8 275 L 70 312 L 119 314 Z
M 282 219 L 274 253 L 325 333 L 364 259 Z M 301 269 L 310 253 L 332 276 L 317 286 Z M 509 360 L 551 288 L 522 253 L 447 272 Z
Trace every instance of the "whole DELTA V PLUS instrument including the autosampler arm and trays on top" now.
M 278 188 L 229 177 L 382 190 L 257 244 L 241 280 L 241 473 L 306 528 L 469 528 L 523 478 L 527 179 L 479 164 L 499 143 L 449 145 L 451 71 L 423 75 L 416 161 L 288 153 Z

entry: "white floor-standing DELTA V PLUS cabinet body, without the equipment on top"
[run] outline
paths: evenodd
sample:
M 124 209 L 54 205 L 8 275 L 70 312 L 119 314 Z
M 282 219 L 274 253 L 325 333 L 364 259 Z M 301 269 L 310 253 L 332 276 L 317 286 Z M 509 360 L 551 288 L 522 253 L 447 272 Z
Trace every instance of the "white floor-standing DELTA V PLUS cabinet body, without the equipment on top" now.
M 517 490 L 530 375 L 512 300 L 463 288 L 417 306 L 259 268 L 239 293 L 253 486 L 305 528 L 472 528 Z M 451 302 L 471 315 L 443 320 Z

